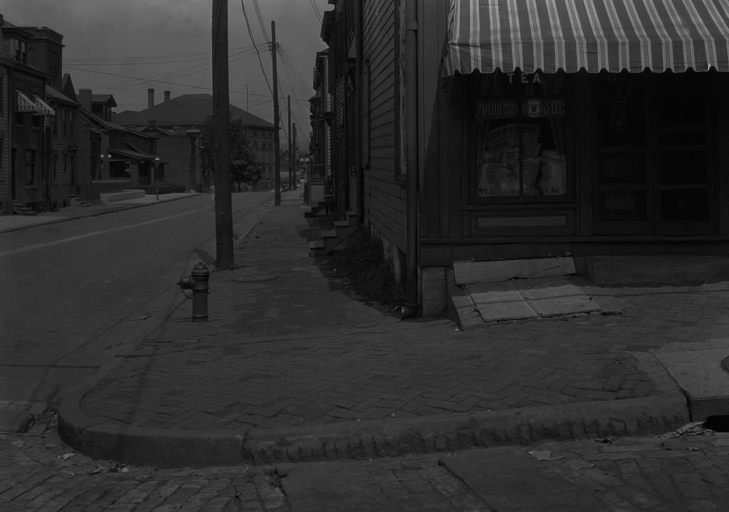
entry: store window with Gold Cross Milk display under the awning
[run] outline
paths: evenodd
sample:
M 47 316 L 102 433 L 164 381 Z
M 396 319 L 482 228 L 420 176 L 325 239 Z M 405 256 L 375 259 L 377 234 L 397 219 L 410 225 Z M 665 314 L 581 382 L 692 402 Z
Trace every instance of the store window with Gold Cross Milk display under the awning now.
M 564 74 L 497 71 L 475 80 L 477 201 L 565 196 Z

